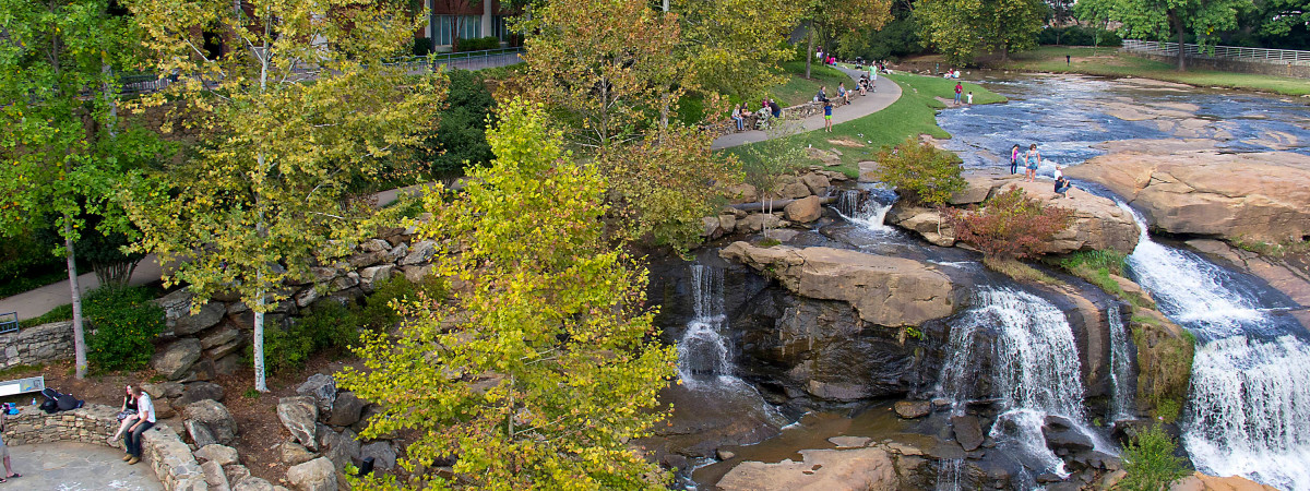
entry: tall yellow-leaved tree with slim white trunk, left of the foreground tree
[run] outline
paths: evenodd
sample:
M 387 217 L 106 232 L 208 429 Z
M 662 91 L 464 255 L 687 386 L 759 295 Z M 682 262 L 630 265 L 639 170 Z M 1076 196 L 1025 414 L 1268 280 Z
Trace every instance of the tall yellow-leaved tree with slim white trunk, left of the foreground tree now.
M 434 118 L 444 77 L 383 65 L 419 25 L 386 1 L 130 7 L 156 68 L 179 75 L 145 105 L 178 101 L 174 111 L 203 132 L 194 157 L 169 169 L 172 187 L 132 194 L 139 249 L 177 261 L 168 283 L 186 283 L 193 308 L 215 292 L 240 295 L 254 312 L 254 386 L 267 390 L 265 314 L 287 299 L 286 283 L 372 232 L 373 207 L 346 187 L 377 179 L 419 143 L 414 122 Z M 227 52 L 198 48 L 206 31 L 221 33 Z

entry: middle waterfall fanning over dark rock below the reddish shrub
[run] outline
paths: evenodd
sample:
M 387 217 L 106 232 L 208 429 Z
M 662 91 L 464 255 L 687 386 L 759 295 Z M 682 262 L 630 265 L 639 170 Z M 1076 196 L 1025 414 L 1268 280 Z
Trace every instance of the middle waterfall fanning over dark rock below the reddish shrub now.
M 1047 415 L 1076 424 L 1085 420 L 1082 368 L 1068 319 L 1045 299 L 1010 288 L 982 288 L 973 305 L 951 327 L 938 393 L 958 407 L 965 401 L 1000 398 L 1005 411 L 997 416 L 992 437 L 1026 466 L 1068 475 L 1041 433 Z M 996 334 L 990 352 L 975 346 L 984 330 Z M 979 359 L 990 359 L 988 393 L 977 389 Z

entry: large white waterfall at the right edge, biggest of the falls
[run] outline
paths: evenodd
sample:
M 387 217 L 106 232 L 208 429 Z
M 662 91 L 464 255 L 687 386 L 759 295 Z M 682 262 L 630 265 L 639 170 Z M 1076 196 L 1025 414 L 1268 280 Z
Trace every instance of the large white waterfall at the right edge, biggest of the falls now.
M 1141 241 L 1131 272 L 1161 312 L 1196 335 L 1183 444 L 1196 467 L 1310 490 L 1310 346 L 1259 291 L 1189 251 Z

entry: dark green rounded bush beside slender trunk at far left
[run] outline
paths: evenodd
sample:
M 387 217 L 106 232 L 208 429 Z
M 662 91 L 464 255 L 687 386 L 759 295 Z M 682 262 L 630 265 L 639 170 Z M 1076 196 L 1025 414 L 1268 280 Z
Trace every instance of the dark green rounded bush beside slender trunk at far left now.
M 155 336 L 164 331 L 164 309 L 145 288 L 102 287 L 86 295 L 86 361 L 97 371 L 145 367 L 155 355 Z

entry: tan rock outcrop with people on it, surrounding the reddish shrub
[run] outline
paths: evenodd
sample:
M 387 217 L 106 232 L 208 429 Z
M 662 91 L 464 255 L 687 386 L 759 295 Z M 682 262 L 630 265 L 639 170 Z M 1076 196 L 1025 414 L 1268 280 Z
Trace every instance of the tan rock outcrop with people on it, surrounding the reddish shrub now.
M 976 174 L 968 175 L 965 182 L 965 187 L 951 196 L 950 204 L 977 206 L 998 192 L 1018 187 L 1044 204 L 1069 209 L 1073 221 L 1043 246 L 1044 253 L 1112 249 L 1131 254 L 1137 246 L 1137 224 L 1110 199 L 1078 189 L 1070 190 L 1069 198 L 1060 198 L 1051 182 L 1022 182 L 1014 175 Z M 934 245 L 955 244 L 955 230 L 933 208 L 899 202 L 887 213 L 887 223 L 913 230 Z

